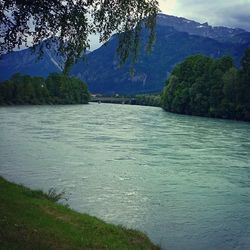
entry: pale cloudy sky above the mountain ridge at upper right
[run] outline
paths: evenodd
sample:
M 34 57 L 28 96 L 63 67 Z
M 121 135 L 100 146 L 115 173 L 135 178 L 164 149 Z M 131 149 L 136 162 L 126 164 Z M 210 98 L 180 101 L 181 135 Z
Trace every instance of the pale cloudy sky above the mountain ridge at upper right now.
M 250 31 L 249 0 L 159 0 L 163 13 Z

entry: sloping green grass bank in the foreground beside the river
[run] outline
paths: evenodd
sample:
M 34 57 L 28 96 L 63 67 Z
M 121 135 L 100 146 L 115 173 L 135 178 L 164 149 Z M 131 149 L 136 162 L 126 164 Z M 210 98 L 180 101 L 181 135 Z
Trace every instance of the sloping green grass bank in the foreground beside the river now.
M 0 177 L 0 249 L 159 249 L 143 233 L 77 213 Z

